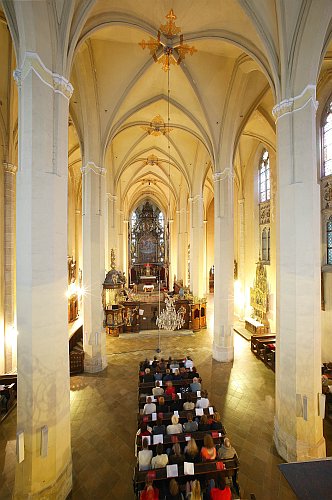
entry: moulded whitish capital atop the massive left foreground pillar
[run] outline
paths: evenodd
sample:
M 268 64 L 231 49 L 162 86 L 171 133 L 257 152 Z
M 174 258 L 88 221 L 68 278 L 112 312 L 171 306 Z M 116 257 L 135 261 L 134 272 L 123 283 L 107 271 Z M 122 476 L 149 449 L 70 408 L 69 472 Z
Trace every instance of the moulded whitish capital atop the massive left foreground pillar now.
M 30 71 L 33 71 L 45 85 L 53 90 L 53 92 L 61 94 L 67 100 L 71 98 L 74 88 L 69 80 L 58 73 L 52 73 L 36 52 L 28 51 L 25 53 L 21 67 L 15 69 L 13 73 L 14 80 L 18 87 L 21 87 L 22 82 L 29 75 Z

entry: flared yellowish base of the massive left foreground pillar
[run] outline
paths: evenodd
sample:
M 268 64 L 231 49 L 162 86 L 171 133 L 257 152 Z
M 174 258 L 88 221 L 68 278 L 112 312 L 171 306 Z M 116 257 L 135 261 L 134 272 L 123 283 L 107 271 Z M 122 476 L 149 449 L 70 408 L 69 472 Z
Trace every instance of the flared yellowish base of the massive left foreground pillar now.
M 18 477 L 20 478 L 20 482 L 18 481 Z M 29 498 L 29 500 L 45 500 L 45 498 L 50 500 L 65 500 L 72 490 L 72 462 L 70 460 L 54 483 L 41 491 L 27 491 L 25 489 L 25 483 L 21 483 L 22 477 L 22 471 L 16 470 L 15 488 L 13 493 L 14 500 L 26 500 L 27 498 Z M 26 478 L 26 481 L 29 481 L 28 477 Z M 33 487 L 33 485 L 30 486 Z

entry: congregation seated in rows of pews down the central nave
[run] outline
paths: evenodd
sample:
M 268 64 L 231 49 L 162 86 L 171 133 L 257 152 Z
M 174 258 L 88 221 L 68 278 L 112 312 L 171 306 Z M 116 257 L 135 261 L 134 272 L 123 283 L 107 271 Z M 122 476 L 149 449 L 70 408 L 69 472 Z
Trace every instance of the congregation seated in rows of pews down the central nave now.
M 238 457 L 192 359 L 140 363 L 137 499 L 239 498 Z

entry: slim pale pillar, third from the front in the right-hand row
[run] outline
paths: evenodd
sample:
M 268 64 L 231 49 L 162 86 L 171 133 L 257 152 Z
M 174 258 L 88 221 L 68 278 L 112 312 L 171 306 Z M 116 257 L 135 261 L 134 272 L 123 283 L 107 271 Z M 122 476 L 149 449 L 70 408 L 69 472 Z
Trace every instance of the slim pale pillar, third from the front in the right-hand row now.
M 203 297 L 205 293 L 203 196 L 198 194 L 189 201 L 191 203 L 190 288 L 194 296 Z

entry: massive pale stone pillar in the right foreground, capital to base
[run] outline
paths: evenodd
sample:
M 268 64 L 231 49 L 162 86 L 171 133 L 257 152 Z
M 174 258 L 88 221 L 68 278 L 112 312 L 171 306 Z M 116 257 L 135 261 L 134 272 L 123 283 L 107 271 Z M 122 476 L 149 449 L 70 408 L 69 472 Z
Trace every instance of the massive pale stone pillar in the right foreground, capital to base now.
M 277 122 L 277 346 L 274 440 L 287 461 L 325 456 L 321 393 L 320 189 L 316 88 L 274 107 Z

